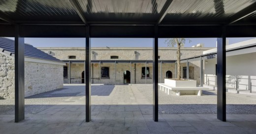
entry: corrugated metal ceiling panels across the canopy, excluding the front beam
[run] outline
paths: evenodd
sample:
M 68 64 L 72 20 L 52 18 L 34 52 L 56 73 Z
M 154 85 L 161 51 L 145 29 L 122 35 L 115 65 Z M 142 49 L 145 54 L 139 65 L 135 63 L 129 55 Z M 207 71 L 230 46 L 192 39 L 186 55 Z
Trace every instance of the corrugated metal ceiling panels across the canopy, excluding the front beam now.
M 0 0 L 0 13 L 14 22 L 83 23 L 79 17 L 80 13 L 75 10 L 79 8 L 90 24 L 156 23 L 170 1 L 162 24 L 184 22 L 228 24 L 233 15 L 256 2 L 256 0 Z M 74 7 L 70 2 L 77 3 L 78 7 Z M 246 18 L 255 19 L 255 16 L 250 15 Z

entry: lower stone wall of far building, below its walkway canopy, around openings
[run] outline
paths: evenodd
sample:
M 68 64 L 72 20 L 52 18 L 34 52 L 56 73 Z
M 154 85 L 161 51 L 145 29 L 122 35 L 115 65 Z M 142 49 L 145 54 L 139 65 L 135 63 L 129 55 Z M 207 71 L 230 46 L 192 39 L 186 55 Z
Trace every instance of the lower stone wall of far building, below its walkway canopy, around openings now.
M 130 67 L 131 66 L 131 67 Z M 159 82 L 164 82 L 164 78 L 166 78 L 166 72 L 171 71 L 172 78 L 175 78 L 175 63 L 162 63 L 162 73 L 160 75 L 160 63 L 159 63 Z M 100 76 L 100 68 L 99 67 L 109 67 L 109 77 L 101 78 Z M 98 84 L 124 84 L 124 72 L 130 72 L 130 83 L 136 84 L 150 84 L 153 83 L 153 64 L 147 63 L 147 67 L 149 67 L 149 77 L 145 80 L 142 77 L 142 67 L 145 67 L 145 63 L 117 63 L 116 64 L 116 73 L 115 73 L 115 63 L 94 63 L 91 66 L 91 78 L 92 83 Z M 181 69 L 183 67 L 187 67 L 186 63 L 181 63 Z M 76 83 L 76 81 L 72 81 L 73 78 L 76 78 L 78 75 L 81 76 L 81 73 L 84 71 L 84 64 L 71 64 L 71 83 Z M 68 74 L 69 75 L 69 74 Z M 181 70 L 181 76 L 183 76 L 183 72 Z M 79 76 L 78 76 L 79 77 Z M 182 77 L 183 78 L 183 77 Z M 184 78 L 187 79 L 187 78 Z M 196 80 L 197 85 L 200 84 L 200 61 L 190 62 L 190 79 Z M 116 82 L 115 82 L 116 80 Z M 136 81 L 135 81 L 136 80 Z M 78 80 L 80 81 L 80 80 Z M 78 82 L 79 83 L 79 82 Z

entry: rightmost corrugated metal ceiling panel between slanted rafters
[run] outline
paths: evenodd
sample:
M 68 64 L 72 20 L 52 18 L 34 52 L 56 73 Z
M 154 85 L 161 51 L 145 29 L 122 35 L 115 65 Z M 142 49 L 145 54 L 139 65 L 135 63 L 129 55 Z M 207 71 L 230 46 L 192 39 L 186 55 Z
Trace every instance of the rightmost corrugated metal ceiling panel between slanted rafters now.
M 173 0 L 163 19 L 169 22 L 228 23 L 232 15 L 248 7 L 255 0 Z

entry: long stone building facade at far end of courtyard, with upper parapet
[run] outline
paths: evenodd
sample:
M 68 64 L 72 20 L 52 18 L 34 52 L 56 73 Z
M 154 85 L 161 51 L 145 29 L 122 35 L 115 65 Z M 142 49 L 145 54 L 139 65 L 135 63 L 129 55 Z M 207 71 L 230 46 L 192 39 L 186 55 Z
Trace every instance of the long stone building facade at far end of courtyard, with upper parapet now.
M 71 83 L 84 82 L 84 60 L 85 48 L 38 48 L 45 53 L 51 53 L 56 58 L 66 62 L 64 70 L 64 83 L 69 82 L 69 61 Z M 203 54 L 203 51 L 212 48 L 193 47 L 181 48 L 181 58 L 193 57 Z M 152 48 L 92 48 L 91 49 L 91 71 L 92 83 L 101 84 L 144 84 L 153 83 L 153 50 Z M 160 61 L 176 60 L 177 48 L 159 48 Z M 77 61 L 77 62 L 76 62 Z M 78 62 L 79 61 L 79 62 Z M 97 61 L 97 62 L 94 62 Z M 100 61 L 100 63 L 99 63 Z M 106 62 L 108 61 L 108 62 Z M 112 63 L 109 63 L 113 61 Z M 115 61 L 117 63 L 115 63 Z M 121 61 L 126 61 L 123 63 Z M 136 61 L 136 63 L 130 63 Z M 147 61 L 147 63 L 146 63 Z M 182 77 L 186 79 L 186 63 L 181 64 Z M 104 69 L 108 68 L 108 76 L 103 75 Z M 147 77 L 145 77 L 146 73 Z M 102 72 L 103 71 L 103 72 Z M 168 71 L 168 72 L 167 72 Z M 161 72 L 161 73 L 160 73 Z M 200 62 L 190 62 L 189 77 L 192 80 L 200 81 Z M 159 82 L 164 82 L 164 78 L 175 78 L 175 63 L 159 63 Z

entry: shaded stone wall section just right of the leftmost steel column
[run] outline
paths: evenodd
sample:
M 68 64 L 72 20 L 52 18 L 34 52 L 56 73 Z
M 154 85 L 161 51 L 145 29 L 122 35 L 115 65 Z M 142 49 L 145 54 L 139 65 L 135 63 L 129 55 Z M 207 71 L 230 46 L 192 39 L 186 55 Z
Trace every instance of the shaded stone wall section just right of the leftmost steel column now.
M 63 65 L 25 61 L 25 96 L 63 88 Z

